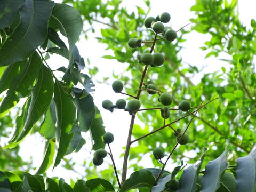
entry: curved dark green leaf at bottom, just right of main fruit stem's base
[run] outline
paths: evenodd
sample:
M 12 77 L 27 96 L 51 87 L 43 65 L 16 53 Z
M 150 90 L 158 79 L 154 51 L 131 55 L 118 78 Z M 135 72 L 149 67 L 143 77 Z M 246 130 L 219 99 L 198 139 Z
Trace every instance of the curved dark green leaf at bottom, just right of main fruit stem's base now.
M 120 192 L 129 191 L 130 189 L 138 189 L 141 187 L 151 188 L 153 187 L 154 182 L 154 175 L 148 170 L 141 169 L 131 174 L 131 177 L 127 179 L 120 188 Z

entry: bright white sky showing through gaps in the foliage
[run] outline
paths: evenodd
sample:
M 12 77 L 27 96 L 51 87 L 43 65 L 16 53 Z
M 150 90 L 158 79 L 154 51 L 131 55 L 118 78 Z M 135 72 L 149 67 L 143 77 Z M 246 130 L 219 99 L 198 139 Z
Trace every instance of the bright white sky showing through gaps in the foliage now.
M 61 2 L 57 0 L 55 2 Z M 122 3 L 124 6 L 127 6 L 129 10 L 135 10 L 135 6 L 145 6 L 142 0 L 131 1 L 124 0 Z M 171 14 L 171 23 L 174 29 L 179 29 L 180 27 L 189 23 L 189 19 L 194 17 L 194 13 L 190 12 L 190 7 L 194 5 L 194 1 L 188 0 L 179 0 L 179 1 L 171 1 L 171 0 L 157 0 L 151 1 L 152 9 L 149 15 L 155 17 L 162 12 L 169 12 Z M 250 26 L 250 20 L 252 18 L 255 19 L 255 0 L 243 0 L 239 1 L 239 16 L 244 25 Z M 90 26 L 84 26 L 85 29 Z M 96 91 L 93 93 L 95 105 L 97 105 L 101 111 L 101 115 L 103 121 L 106 126 L 107 132 L 112 132 L 115 135 L 114 145 L 112 145 L 112 150 L 114 151 L 114 158 L 116 159 L 116 164 L 118 170 L 122 169 L 123 159 L 119 158 L 119 155 L 123 153 L 122 147 L 126 144 L 126 135 L 128 132 L 129 124 L 130 124 L 130 116 L 127 113 L 124 113 L 122 110 L 114 111 L 114 113 L 110 113 L 107 110 L 104 110 L 101 107 L 102 100 L 110 99 L 115 102 L 117 99 L 123 98 L 123 95 L 115 94 L 111 89 L 111 83 L 113 82 L 113 78 L 110 78 L 109 84 L 99 84 L 98 81 L 101 81 L 103 77 L 111 76 L 114 73 L 121 73 L 126 69 L 127 64 L 118 63 L 116 60 L 107 60 L 101 58 L 103 55 L 111 54 L 111 51 L 106 51 L 105 45 L 99 44 L 94 37 L 101 36 L 100 28 L 105 27 L 101 25 L 94 25 L 96 31 L 95 34 L 89 33 L 89 40 L 85 41 L 83 36 L 81 36 L 80 41 L 77 43 L 78 50 L 82 57 L 89 58 L 91 61 L 90 67 L 92 68 L 94 65 L 99 68 L 99 73 L 96 75 L 96 78 L 93 79 L 96 84 Z M 198 34 L 196 32 L 192 32 L 185 37 L 187 42 L 183 43 L 185 49 L 183 49 L 180 53 L 184 63 L 190 63 L 190 65 L 197 66 L 198 68 L 202 68 L 202 66 L 207 66 L 204 69 L 204 73 L 209 73 L 213 70 L 220 69 L 222 66 L 222 62 L 220 60 L 215 59 L 214 57 L 210 57 L 204 59 L 207 52 L 201 51 L 199 47 L 203 46 L 203 43 L 209 39 L 209 35 Z M 68 65 L 68 61 L 59 57 L 58 55 L 53 56 L 51 60 L 48 61 L 50 66 L 53 69 L 58 68 L 61 65 Z M 86 63 L 87 64 L 87 63 Z M 197 76 L 193 79 L 193 82 L 196 84 L 200 81 L 201 76 Z M 138 119 L 135 121 L 135 124 L 143 125 L 141 122 L 138 122 Z M 87 134 L 84 135 L 87 138 Z M 154 137 L 154 136 L 153 136 Z M 33 159 L 33 164 L 35 166 L 39 166 L 42 161 L 42 151 L 43 151 L 43 139 L 41 136 L 36 135 L 36 137 L 27 137 L 21 143 L 20 155 L 25 161 L 29 161 L 30 158 Z M 83 164 L 84 159 L 87 161 L 92 161 L 93 154 L 89 154 L 87 151 L 91 149 L 91 141 L 86 140 L 86 145 L 83 146 L 83 149 L 79 151 L 79 153 L 74 153 L 68 156 L 73 157 L 73 160 L 77 162 L 77 164 Z M 110 158 L 106 159 L 106 162 L 110 163 Z M 99 169 L 106 168 L 107 163 L 103 163 Z M 148 161 L 148 155 L 143 158 L 143 162 L 140 162 L 139 165 L 150 167 L 152 166 L 151 161 Z M 143 164 L 142 164 L 143 163 Z M 169 163 L 169 167 L 167 166 L 167 170 L 172 171 L 172 165 Z M 75 166 L 75 169 L 84 174 L 84 169 L 82 166 Z M 32 173 L 33 174 L 33 173 Z M 58 176 L 62 177 L 69 182 L 70 178 L 76 180 L 76 177 L 79 178 L 79 175 L 63 169 L 61 166 L 55 168 L 53 172 L 51 172 L 51 168 L 47 172 L 48 177 Z

